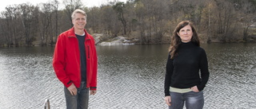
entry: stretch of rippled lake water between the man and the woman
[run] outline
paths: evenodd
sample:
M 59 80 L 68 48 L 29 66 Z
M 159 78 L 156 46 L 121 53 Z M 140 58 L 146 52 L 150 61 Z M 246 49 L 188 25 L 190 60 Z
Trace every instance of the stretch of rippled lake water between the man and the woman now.
M 162 45 L 98 47 L 98 78 L 106 82 L 99 84 L 99 99 L 92 108 L 164 107 L 159 104 L 166 53 Z

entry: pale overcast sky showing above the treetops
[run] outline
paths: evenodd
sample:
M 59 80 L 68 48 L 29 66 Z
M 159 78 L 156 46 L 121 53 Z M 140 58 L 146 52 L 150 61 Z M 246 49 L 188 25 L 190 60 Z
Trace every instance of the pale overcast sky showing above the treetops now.
M 101 4 L 106 4 L 107 2 L 113 2 L 114 0 L 81 0 L 84 6 L 92 7 L 92 6 L 100 6 Z M 118 0 L 119 2 L 126 2 L 126 0 Z M 14 5 L 14 4 L 22 4 L 30 2 L 34 6 L 39 3 L 50 2 L 50 0 L 4 0 L 0 3 L 0 12 L 6 9 L 6 6 Z M 58 2 L 63 2 L 63 0 L 58 0 Z

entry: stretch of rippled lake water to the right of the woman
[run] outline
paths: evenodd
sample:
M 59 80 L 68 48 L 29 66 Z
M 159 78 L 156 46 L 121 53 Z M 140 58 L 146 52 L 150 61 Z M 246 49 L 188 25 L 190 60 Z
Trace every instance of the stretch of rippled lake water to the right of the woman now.
M 206 103 L 218 103 L 219 108 L 255 108 L 255 44 L 213 44 L 206 49 L 212 74 Z

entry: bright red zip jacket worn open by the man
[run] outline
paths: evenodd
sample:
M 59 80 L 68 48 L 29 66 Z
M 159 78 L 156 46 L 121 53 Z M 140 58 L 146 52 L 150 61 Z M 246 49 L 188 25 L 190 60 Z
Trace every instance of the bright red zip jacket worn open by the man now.
M 95 48 L 94 37 L 86 32 L 86 87 L 90 90 L 97 88 L 97 53 Z M 74 34 L 74 27 L 61 33 L 54 49 L 54 72 L 58 80 L 66 88 L 73 83 L 77 88 L 81 84 L 81 68 L 80 68 L 80 50 L 78 39 Z

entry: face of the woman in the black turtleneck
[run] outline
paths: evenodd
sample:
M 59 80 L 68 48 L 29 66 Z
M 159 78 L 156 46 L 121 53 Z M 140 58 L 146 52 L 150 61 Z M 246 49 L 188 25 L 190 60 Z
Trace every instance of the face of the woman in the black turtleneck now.
M 193 32 L 190 25 L 184 26 L 182 29 L 177 32 L 178 36 L 181 37 L 182 42 L 190 42 L 193 36 Z

